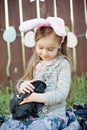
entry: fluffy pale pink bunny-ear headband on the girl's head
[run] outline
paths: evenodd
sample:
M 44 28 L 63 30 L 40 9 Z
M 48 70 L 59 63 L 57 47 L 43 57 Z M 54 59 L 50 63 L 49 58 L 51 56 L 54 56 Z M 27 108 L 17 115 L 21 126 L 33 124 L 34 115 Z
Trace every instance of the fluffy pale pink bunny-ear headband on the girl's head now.
M 55 33 L 58 36 L 61 36 L 63 39 L 66 36 L 64 20 L 59 17 L 47 17 L 46 19 L 35 18 L 35 19 L 27 20 L 27 21 L 24 21 L 19 26 L 19 30 L 21 32 L 26 32 L 30 30 L 35 30 L 42 26 L 52 27 Z

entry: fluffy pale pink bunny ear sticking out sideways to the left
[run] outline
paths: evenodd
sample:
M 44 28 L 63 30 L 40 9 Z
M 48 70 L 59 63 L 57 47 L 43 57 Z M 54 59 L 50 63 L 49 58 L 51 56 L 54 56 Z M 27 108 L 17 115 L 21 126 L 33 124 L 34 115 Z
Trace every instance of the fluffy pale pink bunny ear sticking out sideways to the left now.
M 27 20 L 24 21 L 20 26 L 19 26 L 19 30 L 21 32 L 26 32 L 26 31 L 30 31 L 33 30 L 39 26 L 42 26 L 43 24 L 45 24 L 45 19 L 43 18 L 35 18 L 35 19 L 31 19 L 31 20 Z

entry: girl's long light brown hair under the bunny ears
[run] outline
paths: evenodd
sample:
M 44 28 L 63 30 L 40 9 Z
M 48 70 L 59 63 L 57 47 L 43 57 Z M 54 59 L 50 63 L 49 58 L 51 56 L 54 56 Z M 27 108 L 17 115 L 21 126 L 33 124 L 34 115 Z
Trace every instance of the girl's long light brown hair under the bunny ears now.
M 39 29 L 36 30 L 36 33 L 35 33 L 36 43 L 40 38 L 51 35 L 52 33 L 54 33 L 54 31 L 51 27 L 40 27 Z M 54 38 L 58 40 L 58 44 L 61 43 L 62 37 L 54 33 Z M 65 57 L 67 57 L 66 42 L 67 42 L 67 38 L 65 37 L 64 42 L 62 43 L 61 48 L 59 50 L 60 54 L 64 55 Z M 37 55 L 36 51 L 34 51 L 31 59 L 29 60 L 28 66 L 26 68 L 26 72 L 21 79 L 32 80 L 33 70 L 39 61 L 40 61 L 40 57 Z

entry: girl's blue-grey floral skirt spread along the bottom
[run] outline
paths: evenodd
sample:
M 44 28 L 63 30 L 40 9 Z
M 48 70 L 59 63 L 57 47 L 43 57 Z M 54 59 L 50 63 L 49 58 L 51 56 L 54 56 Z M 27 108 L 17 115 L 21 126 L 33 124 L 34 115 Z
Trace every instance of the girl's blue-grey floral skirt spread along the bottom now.
M 28 119 L 24 123 L 10 118 L 2 124 L 0 130 L 79 130 L 79 128 L 74 113 L 69 111 L 65 121 L 56 116 L 45 116 L 36 120 Z

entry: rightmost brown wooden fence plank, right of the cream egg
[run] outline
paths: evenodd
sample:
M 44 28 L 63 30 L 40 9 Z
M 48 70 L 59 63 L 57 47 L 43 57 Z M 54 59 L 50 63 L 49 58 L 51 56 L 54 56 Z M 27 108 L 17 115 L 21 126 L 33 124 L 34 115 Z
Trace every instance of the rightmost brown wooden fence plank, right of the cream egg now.
M 86 32 L 84 1 L 74 0 L 74 26 L 75 34 L 80 35 Z M 77 74 L 81 75 L 87 71 L 87 40 L 85 36 L 78 38 L 77 46 Z

